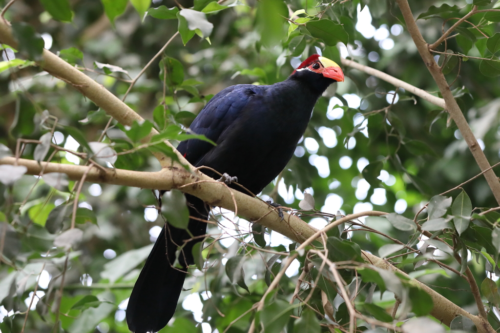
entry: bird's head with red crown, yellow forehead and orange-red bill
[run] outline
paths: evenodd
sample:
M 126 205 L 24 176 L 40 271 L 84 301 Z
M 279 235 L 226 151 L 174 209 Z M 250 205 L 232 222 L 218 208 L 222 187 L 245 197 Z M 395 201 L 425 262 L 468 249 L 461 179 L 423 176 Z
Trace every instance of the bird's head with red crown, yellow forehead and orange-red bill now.
M 313 54 L 305 59 L 290 74 L 290 78 L 305 80 L 323 91 L 330 83 L 344 80 L 340 67 L 334 61 L 319 54 Z

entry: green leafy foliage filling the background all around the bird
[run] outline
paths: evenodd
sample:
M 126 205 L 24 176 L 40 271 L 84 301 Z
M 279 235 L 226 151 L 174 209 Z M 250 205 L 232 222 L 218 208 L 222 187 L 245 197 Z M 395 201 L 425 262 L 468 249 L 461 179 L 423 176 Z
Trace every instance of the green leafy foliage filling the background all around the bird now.
M 411 2 L 429 43 L 478 10 L 434 54 L 480 148 L 497 163 L 500 5 Z M 349 57 L 441 97 L 393 1 L 15 1 L 5 18 L 19 47 L 0 44 L 0 158 L 159 170 L 151 152 L 175 158 L 163 140 L 194 137 L 186 129 L 213 94 L 281 81 L 313 52 L 337 63 Z M 34 61 L 43 45 L 147 120 L 123 126 L 77 86 L 42 71 Z M 257 332 L 345 332 L 351 323 L 362 332 L 432 311 L 422 288 L 365 263 L 361 250 L 471 313 L 482 300 L 500 328 L 498 203 L 482 176 L 468 181 L 480 169 L 456 124 L 409 91 L 342 69 L 345 82 L 318 100 L 292 160 L 259 197 L 319 228 L 339 215 L 387 215 L 340 224 L 296 250 L 276 232 L 214 208 L 219 224 L 194 247 L 196 267 L 161 332 L 247 332 L 252 321 Z M 149 138 L 152 128 L 160 134 Z M 128 332 L 126 300 L 164 218 L 185 226 L 183 196 L 163 195 L 158 217 L 148 190 L 26 172 L 0 165 L 1 332 Z M 290 256 L 296 260 L 278 275 Z M 476 330 L 464 316 L 451 328 Z

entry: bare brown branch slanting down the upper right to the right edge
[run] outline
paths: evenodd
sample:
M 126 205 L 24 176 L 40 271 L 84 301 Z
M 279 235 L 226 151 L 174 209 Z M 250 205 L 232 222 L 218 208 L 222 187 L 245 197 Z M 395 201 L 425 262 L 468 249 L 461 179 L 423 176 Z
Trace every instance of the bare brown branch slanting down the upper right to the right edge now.
M 490 168 L 489 162 L 486 159 L 486 156 L 484 156 L 484 153 L 482 152 L 479 144 L 477 143 L 474 134 L 470 130 L 467 120 L 465 120 L 460 107 L 458 107 L 458 104 L 456 103 L 455 98 L 453 97 L 453 94 L 449 89 L 448 83 L 446 82 L 441 68 L 435 62 L 432 53 L 430 53 L 428 49 L 428 44 L 423 39 L 420 30 L 418 30 L 418 26 L 416 25 L 415 19 L 413 18 L 413 14 L 411 13 L 408 1 L 396 0 L 396 2 L 399 5 L 401 13 L 404 17 L 404 21 L 406 22 L 408 32 L 410 33 L 411 38 L 413 38 L 413 42 L 415 43 L 416 48 L 418 49 L 418 52 L 420 53 L 420 56 L 425 63 L 425 66 L 427 66 L 427 69 L 429 70 L 430 74 L 434 78 L 434 81 L 439 87 L 439 91 L 441 92 L 444 102 L 446 103 L 446 110 L 449 112 L 451 118 L 460 130 L 463 139 L 467 143 L 470 152 L 472 153 L 472 156 L 474 156 L 474 159 L 481 171 L 487 170 L 488 168 Z M 498 205 L 500 205 L 500 183 L 498 182 L 498 178 L 491 169 L 484 172 L 484 178 L 486 178 L 486 181 L 489 185 L 489 188 L 491 189 L 491 192 L 493 192 L 493 196 L 495 197 L 496 202 L 498 203 Z

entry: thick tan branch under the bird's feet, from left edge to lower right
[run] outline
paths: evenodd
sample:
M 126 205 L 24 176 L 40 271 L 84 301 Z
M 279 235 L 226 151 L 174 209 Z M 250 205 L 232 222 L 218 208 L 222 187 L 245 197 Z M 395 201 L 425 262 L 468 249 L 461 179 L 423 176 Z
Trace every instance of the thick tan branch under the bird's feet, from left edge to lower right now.
M 27 174 L 37 175 L 40 173 L 41 169 L 44 168 L 45 173 L 62 172 L 67 174 L 68 178 L 71 180 L 81 179 L 81 176 L 87 170 L 87 167 L 79 165 L 41 162 L 40 166 L 36 161 L 22 158 L 16 160 L 14 157 L 4 157 L 0 159 L 0 165 L 13 165 L 15 162 L 17 162 L 17 165 L 26 166 Z M 202 181 L 196 175 L 186 171 L 184 168 L 163 168 L 158 172 L 141 172 L 122 169 L 108 169 L 104 172 L 97 168 L 92 168 L 87 173 L 86 180 L 96 183 L 136 186 L 148 189 L 170 190 L 172 188 L 179 188 L 185 193 L 199 197 L 210 205 L 223 207 L 232 211 L 234 211 L 232 199 L 232 196 L 234 196 L 234 200 L 238 206 L 238 213 L 241 216 L 250 221 L 258 220 L 259 224 L 294 241 L 302 243 L 303 245 L 301 245 L 298 249 L 303 249 L 307 244 L 310 244 L 311 241 L 318 237 L 321 232 L 324 233 L 339 223 L 356 219 L 361 216 L 380 216 L 383 214 L 382 212 L 364 212 L 348 215 L 330 223 L 322 229 L 321 232 L 319 232 L 317 229 L 309 226 L 307 223 L 294 215 L 284 213 L 285 217 L 281 220 L 279 216 L 269 207 L 269 205 L 261 200 L 229 189 L 221 182 L 213 180 Z M 398 270 L 383 259 L 366 252 L 363 252 L 363 256 L 365 257 L 366 262 L 376 267 L 391 270 L 407 277 L 406 273 Z M 412 281 L 415 285 L 418 285 L 430 295 L 434 303 L 434 309 L 432 310 L 431 315 L 442 321 L 445 325 L 449 326 L 451 320 L 453 320 L 456 315 L 463 315 L 471 319 L 476 324 L 479 333 L 490 332 L 484 328 L 481 329 L 482 322 L 479 317 L 469 314 L 417 280 L 413 279 Z

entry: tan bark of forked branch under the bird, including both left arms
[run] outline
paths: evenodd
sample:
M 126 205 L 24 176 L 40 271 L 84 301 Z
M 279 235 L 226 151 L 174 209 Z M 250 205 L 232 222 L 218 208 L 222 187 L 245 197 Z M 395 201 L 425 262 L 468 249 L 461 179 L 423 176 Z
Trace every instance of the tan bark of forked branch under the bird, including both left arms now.
M 17 46 L 17 42 L 12 37 L 10 27 L 1 19 L 0 42 L 14 48 Z M 111 115 L 121 124 L 131 125 L 133 120 L 142 120 L 138 114 L 122 103 L 118 98 L 116 98 L 116 96 L 111 94 L 100 84 L 96 83 L 76 68 L 70 66 L 55 54 L 47 50 L 43 50 L 42 61 L 39 62 L 39 65 L 55 77 L 71 84 L 75 87 L 75 89 L 92 100 L 96 105 L 104 109 L 107 114 Z M 154 132 L 155 131 L 153 130 L 151 135 L 155 134 Z M 149 140 L 149 137 L 145 140 Z M 165 143 L 169 144 L 168 142 Z M 36 161 L 15 159 L 13 157 L 0 159 L 0 164 L 14 165 L 17 163 L 17 165 L 25 165 L 28 169 L 27 173 L 33 175 L 38 174 L 43 167 L 45 173 L 63 172 L 66 173 L 72 180 L 81 179 L 81 176 L 86 172 L 86 180 L 92 182 L 164 190 L 179 188 L 182 192 L 195 195 L 211 206 L 219 206 L 235 211 L 235 202 L 238 213 L 243 217 L 251 221 L 258 220 L 259 224 L 268 227 L 294 241 L 302 243 L 311 237 L 315 238 L 313 236 L 315 236 L 318 230 L 309 226 L 298 217 L 285 213 L 284 219 L 281 220 L 277 213 L 273 211 L 268 204 L 241 192 L 232 190 L 223 183 L 214 181 L 204 174 L 194 170 L 194 168 L 187 163 L 187 161 L 180 154 L 177 153 L 177 155 L 179 156 L 181 163 L 185 163 L 191 168 L 191 172 L 186 171 L 182 166 L 172 165 L 169 158 L 161 155 L 155 155 L 163 167 L 162 170 L 158 172 L 138 172 L 120 169 L 102 171 L 97 170 L 96 168 L 88 170 L 88 167 L 86 166 L 62 165 L 48 162 L 42 162 L 39 165 Z M 365 215 L 370 214 L 371 213 L 366 212 Z M 359 214 L 346 216 L 341 220 L 349 220 L 357 217 L 359 217 Z M 337 222 L 340 223 L 339 221 Z M 368 253 L 363 253 L 363 255 L 368 263 L 376 267 L 392 270 L 407 276 L 404 272 L 398 270 L 376 256 Z M 418 285 L 420 288 L 429 293 L 434 302 L 434 309 L 432 310 L 431 315 L 440 319 L 445 325 L 449 326 L 451 320 L 456 315 L 461 314 L 476 323 L 479 333 L 491 332 L 487 329 L 487 327 L 479 325 L 481 323 L 479 317 L 467 313 L 447 300 L 445 297 L 439 295 L 417 280 L 413 279 L 412 281 L 415 285 Z

